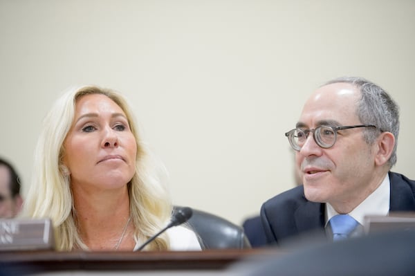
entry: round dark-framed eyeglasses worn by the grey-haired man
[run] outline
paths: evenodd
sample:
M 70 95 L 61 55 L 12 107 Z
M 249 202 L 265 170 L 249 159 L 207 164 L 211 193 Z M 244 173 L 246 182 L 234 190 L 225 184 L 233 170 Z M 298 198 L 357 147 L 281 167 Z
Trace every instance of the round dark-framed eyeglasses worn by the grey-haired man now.
M 333 147 L 335 140 L 337 139 L 337 131 L 341 129 L 354 129 L 356 127 L 375 127 L 375 125 L 352 125 L 344 127 L 330 127 L 322 125 L 316 127 L 315 129 L 291 129 L 291 131 L 286 132 L 286 137 L 291 144 L 291 147 L 296 151 L 299 151 L 306 142 L 310 132 L 313 132 L 313 138 L 317 145 L 324 149 Z

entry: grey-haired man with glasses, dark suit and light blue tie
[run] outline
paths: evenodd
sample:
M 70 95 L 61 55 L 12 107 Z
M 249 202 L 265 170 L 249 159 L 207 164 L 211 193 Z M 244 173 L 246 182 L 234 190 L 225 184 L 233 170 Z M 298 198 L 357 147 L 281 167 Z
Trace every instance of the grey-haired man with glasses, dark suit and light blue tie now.
M 343 77 L 317 89 L 285 134 L 303 185 L 261 207 L 267 242 L 344 239 L 362 233 L 365 215 L 414 211 L 415 181 L 390 172 L 398 131 L 398 105 L 376 84 Z

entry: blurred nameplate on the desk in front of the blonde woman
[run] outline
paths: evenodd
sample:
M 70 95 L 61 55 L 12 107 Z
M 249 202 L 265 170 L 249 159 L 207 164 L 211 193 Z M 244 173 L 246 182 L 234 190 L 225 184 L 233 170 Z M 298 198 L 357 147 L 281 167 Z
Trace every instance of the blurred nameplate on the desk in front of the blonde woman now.
M 54 244 L 50 219 L 0 219 L 0 251 L 52 250 Z

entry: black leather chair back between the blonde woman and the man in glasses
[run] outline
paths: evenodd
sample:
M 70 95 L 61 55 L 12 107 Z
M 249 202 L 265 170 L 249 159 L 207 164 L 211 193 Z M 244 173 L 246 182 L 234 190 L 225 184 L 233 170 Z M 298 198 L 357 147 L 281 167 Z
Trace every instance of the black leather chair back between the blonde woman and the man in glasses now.
M 203 249 L 251 247 L 241 226 L 208 212 L 192 210 L 193 215 L 187 225 L 199 235 Z

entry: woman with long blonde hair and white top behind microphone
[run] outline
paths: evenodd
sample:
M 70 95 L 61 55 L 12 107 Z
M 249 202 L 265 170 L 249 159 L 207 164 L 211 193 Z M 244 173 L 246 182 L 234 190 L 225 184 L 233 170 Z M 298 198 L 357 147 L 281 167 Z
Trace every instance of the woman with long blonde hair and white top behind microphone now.
M 169 223 L 172 204 L 126 100 L 110 89 L 67 91 L 44 119 L 24 205 L 48 217 L 57 250 L 137 250 Z M 201 250 L 170 228 L 144 250 Z

